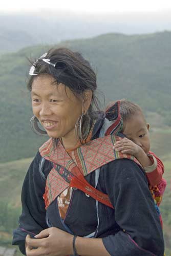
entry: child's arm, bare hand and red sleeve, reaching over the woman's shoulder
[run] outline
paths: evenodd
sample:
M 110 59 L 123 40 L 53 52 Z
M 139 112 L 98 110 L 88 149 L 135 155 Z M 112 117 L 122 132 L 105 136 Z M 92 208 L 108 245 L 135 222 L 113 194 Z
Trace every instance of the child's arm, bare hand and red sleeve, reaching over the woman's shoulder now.
M 146 154 L 140 146 L 127 138 L 117 141 L 114 145 L 114 149 L 121 151 L 123 154 L 134 155 L 144 167 L 150 185 L 155 186 L 160 183 L 164 166 L 153 152 Z

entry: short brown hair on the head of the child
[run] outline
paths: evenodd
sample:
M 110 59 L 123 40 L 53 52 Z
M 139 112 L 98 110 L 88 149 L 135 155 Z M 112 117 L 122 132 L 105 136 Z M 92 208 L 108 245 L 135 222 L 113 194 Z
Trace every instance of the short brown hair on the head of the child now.
M 144 117 L 143 111 L 140 108 L 140 106 L 126 99 L 120 100 L 119 110 L 120 110 L 120 116 L 123 121 L 130 119 L 133 115 L 137 114 L 137 112 L 141 113 L 142 116 Z M 144 117 L 144 120 L 145 120 L 145 117 Z

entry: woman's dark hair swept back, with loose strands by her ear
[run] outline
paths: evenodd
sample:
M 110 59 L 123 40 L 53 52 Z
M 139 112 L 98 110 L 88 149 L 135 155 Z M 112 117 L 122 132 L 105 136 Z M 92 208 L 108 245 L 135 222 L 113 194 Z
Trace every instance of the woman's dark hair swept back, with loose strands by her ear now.
M 67 86 L 75 96 L 83 96 L 86 90 L 92 91 L 92 102 L 88 110 L 91 123 L 97 118 L 99 101 L 95 95 L 97 88 L 97 78 L 90 62 L 82 57 L 78 52 L 73 52 L 67 48 L 57 48 L 48 51 L 46 59 L 49 59 L 52 65 L 46 63 L 40 57 L 31 64 L 35 67 L 34 73 L 37 76 L 41 74 L 49 74 L 54 78 L 54 84 L 62 83 Z M 32 83 L 36 76 L 30 76 L 27 88 L 32 90 Z M 98 111 L 97 111 L 98 110 Z

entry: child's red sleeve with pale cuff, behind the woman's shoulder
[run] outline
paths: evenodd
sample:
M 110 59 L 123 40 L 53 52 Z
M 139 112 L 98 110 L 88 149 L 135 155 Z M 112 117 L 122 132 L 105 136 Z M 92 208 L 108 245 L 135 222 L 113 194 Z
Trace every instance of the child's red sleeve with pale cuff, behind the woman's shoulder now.
M 164 165 L 162 161 L 151 151 L 147 156 L 152 160 L 153 164 L 151 166 L 144 167 L 149 185 L 156 186 L 162 180 L 162 175 L 164 173 Z

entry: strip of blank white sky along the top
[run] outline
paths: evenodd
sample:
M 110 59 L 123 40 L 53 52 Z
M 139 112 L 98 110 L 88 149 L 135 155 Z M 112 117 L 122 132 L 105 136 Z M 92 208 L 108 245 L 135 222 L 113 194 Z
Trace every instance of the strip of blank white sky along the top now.
M 37 9 L 56 9 L 72 12 L 159 12 L 171 10 L 170 0 L 5 0 L 1 1 L 0 11 L 21 11 Z

